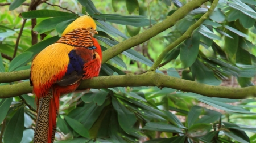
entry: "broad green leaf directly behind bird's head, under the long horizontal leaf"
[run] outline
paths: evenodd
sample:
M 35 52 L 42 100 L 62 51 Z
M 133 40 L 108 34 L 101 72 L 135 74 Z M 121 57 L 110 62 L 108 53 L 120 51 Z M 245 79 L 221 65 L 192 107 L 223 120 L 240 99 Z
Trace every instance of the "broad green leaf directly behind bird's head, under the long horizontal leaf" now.
M 76 18 L 77 18 L 76 15 L 71 15 L 71 16 L 57 16 L 55 18 L 45 19 L 41 21 L 39 24 L 36 24 L 34 31 L 38 31 L 40 34 L 42 34 L 44 32 L 55 29 L 57 24 L 61 23 L 61 25 L 63 25 L 63 21 L 65 20 L 75 20 Z

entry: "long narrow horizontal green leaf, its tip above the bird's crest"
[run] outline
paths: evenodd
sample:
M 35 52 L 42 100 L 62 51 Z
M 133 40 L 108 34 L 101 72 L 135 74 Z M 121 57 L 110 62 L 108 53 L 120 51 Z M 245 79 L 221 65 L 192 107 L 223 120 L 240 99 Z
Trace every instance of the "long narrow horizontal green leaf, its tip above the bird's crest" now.
M 21 13 L 23 18 L 47 18 L 47 17 L 57 17 L 57 16 L 76 16 L 69 12 L 57 11 L 57 10 L 35 10 Z

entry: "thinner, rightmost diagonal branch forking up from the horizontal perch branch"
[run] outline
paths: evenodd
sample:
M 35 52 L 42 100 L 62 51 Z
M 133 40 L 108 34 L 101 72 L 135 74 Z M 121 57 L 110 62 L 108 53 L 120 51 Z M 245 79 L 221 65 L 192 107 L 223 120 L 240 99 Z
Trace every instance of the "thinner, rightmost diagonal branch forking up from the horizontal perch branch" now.
M 196 21 L 195 24 L 191 25 L 191 27 L 188 28 L 188 30 L 181 36 L 179 37 L 177 40 L 175 40 L 174 42 L 172 42 L 169 46 L 166 47 L 166 49 L 164 49 L 162 51 L 162 53 L 159 55 L 159 57 L 156 59 L 155 63 L 152 65 L 152 67 L 150 68 L 150 70 L 148 71 L 155 71 L 156 68 L 158 68 L 159 64 L 162 62 L 163 58 L 166 57 L 166 54 L 174 49 L 177 45 L 181 44 L 181 42 L 183 42 L 184 40 L 186 40 L 187 38 L 189 38 L 192 34 L 192 32 L 200 27 L 200 25 L 209 18 L 210 14 L 212 14 L 212 12 L 214 11 L 215 7 L 218 5 L 218 0 L 214 0 L 212 3 L 212 6 L 210 6 L 210 8 L 208 9 L 207 12 L 205 12 L 205 14 L 203 16 L 201 16 L 201 18 Z

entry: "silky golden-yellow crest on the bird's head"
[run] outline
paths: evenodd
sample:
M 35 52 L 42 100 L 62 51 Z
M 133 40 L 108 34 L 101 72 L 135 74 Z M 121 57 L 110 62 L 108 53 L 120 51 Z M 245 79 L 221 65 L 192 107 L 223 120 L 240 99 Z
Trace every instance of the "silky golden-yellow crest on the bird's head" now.
M 67 28 L 63 31 L 62 36 L 73 31 L 74 29 L 79 28 L 90 28 L 92 27 L 93 30 L 96 30 L 96 23 L 95 21 L 88 15 L 83 15 L 73 21 L 71 24 L 67 26 Z

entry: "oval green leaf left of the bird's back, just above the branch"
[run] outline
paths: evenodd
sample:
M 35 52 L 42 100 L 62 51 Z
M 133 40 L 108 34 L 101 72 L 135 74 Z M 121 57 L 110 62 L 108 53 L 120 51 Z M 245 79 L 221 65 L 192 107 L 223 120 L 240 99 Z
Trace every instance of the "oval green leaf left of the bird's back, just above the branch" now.
M 16 68 L 24 66 L 25 64 L 30 62 L 30 60 L 32 60 L 32 55 L 33 53 L 30 51 L 19 54 L 17 57 L 11 60 L 9 72 L 14 71 Z

